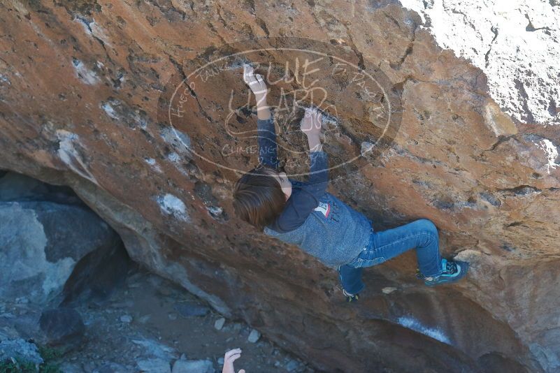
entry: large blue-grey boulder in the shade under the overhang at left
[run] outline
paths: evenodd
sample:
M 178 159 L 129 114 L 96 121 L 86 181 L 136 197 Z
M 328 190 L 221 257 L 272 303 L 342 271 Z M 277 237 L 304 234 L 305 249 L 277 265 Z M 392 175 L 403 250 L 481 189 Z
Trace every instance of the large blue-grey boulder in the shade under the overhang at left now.
M 122 240 L 68 186 L 5 173 L 0 216 L 0 299 L 100 302 L 123 283 Z

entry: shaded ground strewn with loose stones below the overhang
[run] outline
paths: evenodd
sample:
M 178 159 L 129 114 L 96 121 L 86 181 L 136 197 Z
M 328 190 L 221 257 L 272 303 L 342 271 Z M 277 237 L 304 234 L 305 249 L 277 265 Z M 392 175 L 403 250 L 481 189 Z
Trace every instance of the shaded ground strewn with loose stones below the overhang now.
M 0 305 L 0 319 L 27 314 L 27 305 L 24 299 Z M 224 319 L 191 293 L 144 270 L 132 270 L 110 299 L 76 310 L 85 335 L 51 362 L 62 372 L 220 372 L 224 352 L 234 348 L 243 350 L 236 370 L 313 372 L 246 323 Z

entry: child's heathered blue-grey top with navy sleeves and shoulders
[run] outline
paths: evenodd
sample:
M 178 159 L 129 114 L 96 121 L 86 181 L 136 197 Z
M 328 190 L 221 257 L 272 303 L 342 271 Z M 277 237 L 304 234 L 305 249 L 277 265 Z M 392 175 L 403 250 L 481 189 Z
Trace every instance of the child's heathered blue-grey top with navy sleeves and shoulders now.
M 258 119 L 259 161 L 278 167 L 273 119 Z M 298 245 L 324 265 L 337 268 L 350 263 L 366 247 L 371 221 L 326 192 L 329 182 L 325 152 L 310 152 L 307 182 L 291 180 L 292 195 L 284 210 L 264 233 Z

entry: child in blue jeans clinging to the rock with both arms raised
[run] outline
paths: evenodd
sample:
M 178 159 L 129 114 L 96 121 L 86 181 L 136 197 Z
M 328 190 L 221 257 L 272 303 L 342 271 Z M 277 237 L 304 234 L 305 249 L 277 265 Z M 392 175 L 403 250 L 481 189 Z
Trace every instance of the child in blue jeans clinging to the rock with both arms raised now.
M 438 229 L 428 219 L 375 232 L 363 214 L 326 192 L 329 177 L 318 110 L 307 108 L 300 124 L 310 151 L 308 181 L 290 180 L 286 173 L 278 172 L 275 125 L 266 104 L 266 83 L 248 65 L 243 78 L 257 98 L 260 164 L 234 186 L 238 217 L 336 268 L 349 302 L 358 300 L 364 288 L 362 268 L 381 264 L 412 248 L 416 249 L 418 277 L 427 286 L 449 284 L 466 275 L 468 263 L 440 257 Z

